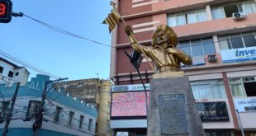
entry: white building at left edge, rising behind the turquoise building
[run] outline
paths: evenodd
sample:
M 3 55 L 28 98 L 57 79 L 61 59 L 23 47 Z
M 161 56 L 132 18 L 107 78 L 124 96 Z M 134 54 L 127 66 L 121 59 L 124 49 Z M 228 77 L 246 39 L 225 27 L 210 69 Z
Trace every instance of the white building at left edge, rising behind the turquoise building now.
M 11 86 L 13 82 L 20 82 L 21 86 L 24 86 L 29 74 L 25 67 L 19 67 L 17 64 L 0 57 L 0 84 Z

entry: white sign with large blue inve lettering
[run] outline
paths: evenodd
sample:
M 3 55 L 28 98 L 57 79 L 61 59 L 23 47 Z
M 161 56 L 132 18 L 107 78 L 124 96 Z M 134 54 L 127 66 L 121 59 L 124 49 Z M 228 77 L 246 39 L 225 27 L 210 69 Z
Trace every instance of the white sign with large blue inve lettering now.
M 225 49 L 220 51 L 223 63 L 256 60 L 256 47 Z

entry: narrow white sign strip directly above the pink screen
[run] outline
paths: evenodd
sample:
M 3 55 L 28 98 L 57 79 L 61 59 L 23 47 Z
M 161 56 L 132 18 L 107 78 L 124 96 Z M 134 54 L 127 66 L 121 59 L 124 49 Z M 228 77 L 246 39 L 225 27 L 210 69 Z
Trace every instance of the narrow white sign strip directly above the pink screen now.
M 149 90 L 149 84 L 145 84 L 146 90 Z M 117 91 L 145 91 L 142 84 L 135 85 L 124 85 L 124 86 L 113 86 L 112 92 Z

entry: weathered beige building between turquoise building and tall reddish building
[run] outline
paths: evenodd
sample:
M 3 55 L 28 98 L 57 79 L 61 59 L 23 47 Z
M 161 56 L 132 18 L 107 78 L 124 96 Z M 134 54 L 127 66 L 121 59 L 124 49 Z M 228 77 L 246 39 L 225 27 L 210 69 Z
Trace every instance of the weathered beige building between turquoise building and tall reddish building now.
M 98 112 L 96 135 L 111 136 L 110 90 L 112 85 L 111 80 L 92 78 L 61 82 L 58 87 L 64 88 L 70 95 L 83 100 L 88 106 L 93 106 Z

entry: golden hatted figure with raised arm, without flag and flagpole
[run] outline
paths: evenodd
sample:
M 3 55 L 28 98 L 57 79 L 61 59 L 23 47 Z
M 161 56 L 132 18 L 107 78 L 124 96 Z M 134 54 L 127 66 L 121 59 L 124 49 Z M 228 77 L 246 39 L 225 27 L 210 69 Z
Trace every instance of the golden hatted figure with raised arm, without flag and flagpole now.
M 181 72 L 181 62 L 187 65 L 192 64 L 192 58 L 176 48 L 177 35 L 169 26 L 160 25 L 157 27 L 152 35 L 152 46 L 140 45 L 135 40 L 130 26 L 126 26 L 125 31 L 131 47 L 138 53 L 146 55 L 145 57 L 149 57 L 154 62 L 159 74 Z M 172 75 L 177 75 L 177 73 Z

